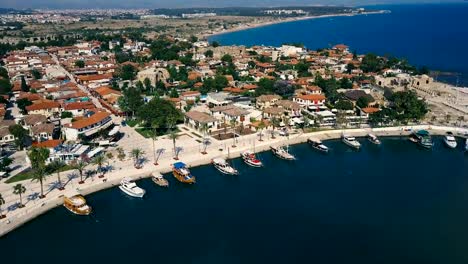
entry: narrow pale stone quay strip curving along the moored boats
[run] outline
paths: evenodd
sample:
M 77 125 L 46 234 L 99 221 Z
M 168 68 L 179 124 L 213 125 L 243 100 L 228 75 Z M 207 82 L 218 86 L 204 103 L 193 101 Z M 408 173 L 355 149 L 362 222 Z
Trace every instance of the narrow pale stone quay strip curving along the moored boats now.
M 431 126 L 431 125 L 415 125 L 415 126 L 400 126 L 400 127 L 384 127 L 384 128 L 357 128 L 357 129 L 340 129 L 340 130 L 325 130 L 318 132 L 310 133 L 299 133 L 293 134 L 288 139 L 277 137 L 276 139 L 267 139 L 263 142 L 258 142 L 256 135 L 251 135 L 247 137 L 243 142 L 239 142 L 237 148 L 231 149 L 230 157 L 237 158 L 240 156 L 241 152 L 251 149 L 253 142 L 255 141 L 256 152 L 263 152 L 269 150 L 272 145 L 282 145 L 284 143 L 288 144 L 301 144 L 307 142 L 308 138 L 317 138 L 321 140 L 330 140 L 338 139 L 341 137 L 343 132 L 346 134 L 355 136 L 355 137 L 364 137 L 368 133 L 372 132 L 379 137 L 392 137 L 392 136 L 407 136 L 411 133 L 411 130 L 426 129 L 430 131 L 433 135 L 443 135 L 446 131 L 452 131 L 456 135 L 466 135 L 468 129 L 458 128 L 458 127 L 445 127 L 445 126 Z M 226 142 L 224 142 L 226 146 Z M 219 151 L 217 147 L 221 145 L 214 145 L 212 148 L 208 149 L 207 155 L 196 154 L 186 154 L 182 157 L 182 160 L 190 165 L 190 167 L 197 167 L 201 165 L 206 165 L 211 162 L 215 157 L 226 156 L 228 149 L 222 149 Z M 106 176 L 106 181 L 92 180 L 91 182 L 86 182 L 84 185 L 77 185 L 76 188 L 69 188 L 63 192 L 55 191 L 53 194 L 49 194 L 44 200 L 39 201 L 33 206 L 28 206 L 21 210 L 18 210 L 16 215 L 10 213 L 7 215 L 7 218 L 0 220 L 0 237 L 8 234 L 9 232 L 15 230 L 16 228 L 22 226 L 23 224 L 35 219 L 36 217 L 46 213 L 50 209 L 53 209 L 57 206 L 63 204 L 64 196 L 72 196 L 75 194 L 88 195 L 94 192 L 98 192 L 104 189 L 118 186 L 121 179 L 124 177 L 130 177 L 133 180 L 139 180 L 143 178 L 151 177 L 152 173 L 168 173 L 171 171 L 171 164 L 173 160 L 161 161 L 161 164 L 155 167 L 153 164 L 146 164 L 143 169 L 137 170 L 133 169 L 131 171 L 115 171 L 110 172 Z M 73 187 L 74 185 L 72 185 Z

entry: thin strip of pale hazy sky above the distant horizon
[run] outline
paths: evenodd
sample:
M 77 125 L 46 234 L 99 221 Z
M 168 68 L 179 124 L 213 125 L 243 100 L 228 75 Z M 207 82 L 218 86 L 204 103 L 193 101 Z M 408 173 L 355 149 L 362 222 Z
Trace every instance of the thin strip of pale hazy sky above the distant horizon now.
M 182 8 L 227 6 L 373 5 L 463 0 L 0 0 L 3 8 Z

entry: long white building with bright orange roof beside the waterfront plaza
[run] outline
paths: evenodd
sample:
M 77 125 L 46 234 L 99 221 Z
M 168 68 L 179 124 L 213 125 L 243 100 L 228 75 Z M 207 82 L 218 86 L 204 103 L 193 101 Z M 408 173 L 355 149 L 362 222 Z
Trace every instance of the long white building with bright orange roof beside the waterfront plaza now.
M 80 136 L 92 136 L 112 124 L 112 117 L 109 113 L 104 111 L 90 112 L 84 118 L 64 125 L 63 131 L 67 140 L 77 140 Z

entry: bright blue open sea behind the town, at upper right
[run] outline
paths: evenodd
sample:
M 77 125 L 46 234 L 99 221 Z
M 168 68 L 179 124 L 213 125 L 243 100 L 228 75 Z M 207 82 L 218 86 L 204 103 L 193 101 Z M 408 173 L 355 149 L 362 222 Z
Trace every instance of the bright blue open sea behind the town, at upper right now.
M 346 44 L 359 54 L 405 58 L 440 72 L 436 79 L 468 86 L 468 3 L 365 6 L 387 14 L 301 20 L 211 36 L 223 45 L 281 46 L 303 43 L 309 49 Z

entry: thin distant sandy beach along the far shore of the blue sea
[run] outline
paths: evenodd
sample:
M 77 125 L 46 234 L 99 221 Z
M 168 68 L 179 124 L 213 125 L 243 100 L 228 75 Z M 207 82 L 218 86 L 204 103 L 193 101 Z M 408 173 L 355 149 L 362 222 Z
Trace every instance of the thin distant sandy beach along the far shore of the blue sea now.
M 319 16 L 291 17 L 291 18 L 284 18 L 284 19 L 280 18 L 279 20 L 276 20 L 276 21 L 247 24 L 245 26 L 234 27 L 234 28 L 230 28 L 226 30 L 219 30 L 219 31 L 211 32 L 211 33 L 203 33 L 201 34 L 201 37 L 209 38 L 213 36 L 218 36 L 218 35 L 223 35 L 223 34 L 243 31 L 243 30 L 249 30 L 253 28 L 260 28 L 260 27 L 266 27 L 266 26 L 271 26 L 275 24 L 290 23 L 290 22 L 296 22 L 296 21 L 302 21 L 302 20 L 312 20 L 312 19 L 319 19 L 319 18 L 332 18 L 332 17 L 352 17 L 352 16 L 359 16 L 359 15 L 377 15 L 377 14 L 387 14 L 387 13 L 390 13 L 390 11 L 379 10 L 379 11 L 369 11 L 369 12 L 356 13 L 356 14 L 345 13 L 345 14 L 329 14 L 329 15 L 319 15 Z

